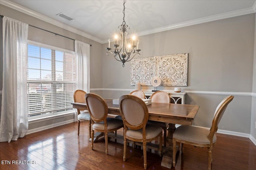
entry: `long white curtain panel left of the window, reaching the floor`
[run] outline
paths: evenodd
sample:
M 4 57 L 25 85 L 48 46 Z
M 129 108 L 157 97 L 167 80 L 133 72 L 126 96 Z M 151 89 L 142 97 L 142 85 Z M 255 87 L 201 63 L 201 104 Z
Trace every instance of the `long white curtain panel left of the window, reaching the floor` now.
M 28 131 L 28 24 L 3 18 L 3 89 L 0 142 L 16 141 Z

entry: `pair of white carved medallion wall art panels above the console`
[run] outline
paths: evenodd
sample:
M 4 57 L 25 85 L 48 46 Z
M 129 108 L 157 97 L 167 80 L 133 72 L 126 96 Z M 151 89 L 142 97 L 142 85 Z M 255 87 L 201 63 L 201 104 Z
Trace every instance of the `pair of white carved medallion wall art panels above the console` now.
M 154 76 L 161 78 L 160 86 L 188 86 L 188 53 L 131 61 L 131 85 L 151 86 Z

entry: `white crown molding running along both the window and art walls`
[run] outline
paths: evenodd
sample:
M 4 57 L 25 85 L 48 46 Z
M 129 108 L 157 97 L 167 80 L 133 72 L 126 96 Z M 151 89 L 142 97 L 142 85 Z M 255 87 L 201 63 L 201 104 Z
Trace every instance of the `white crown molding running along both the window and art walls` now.
M 28 14 L 30 16 L 38 18 L 42 21 L 46 21 L 48 23 L 51 23 L 53 25 L 56 25 L 56 26 L 61 27 L 63 29 L 66 29 L 66 30 L 71 31 L 73 33 L 76 33 L 78 35 L 82 35 L 83 37 L 92 39 L 94 41 L 97 41 L 98 43 L 103 44 L 103 43 L 108 42 L 108 39 L 104 39 L 104 40 L 99 39 L 99 38 L 94 37 L 94 36 L 92 36 L 88 33 L 80 31 L 79 29 L 76 29 L 74 27 L 66 25 L 66 24 L 64 24 L 60 21 L 53 20 L 50 17 L 44 16 L 42 14 L 39 14 L 38 12 L 35 12 L 33 10 L 30 10 L 28 8 L 25 8 L 23 6 L 20 6 L 18 4 L 10 2 L 9 0 L 2 0 L 2 1 L 0 1 L 0 4 L 2 4 L 4 6 L 8 6 L 10 8 L 13 8 L 14 10 L 18 10 L 18 11 L 24 13 L 24 14 Z M 237 11 L 233 11 L 233 12 L 226 12 L 226 13 L 223 13 L 223 14 L 217 14 L 217 15 L 214 15 L 214 16 L 204 17 L 204 18 L 200 18 L 200 19 L 196 19 L 196 20 L 186 21 L 186 22 L 177 23 L 177 24 L 173 24 L 173 25 L 167 25 L 165 27 L 159 27 L 159 28 L 156 28 L 156 29 L 141 31 L 137 35 L 138 36 L 148 35 L 148 34 L 152 34 L 152 33 L 158 33 L 158 32 L 162 32 L 162 31 L 167 31 L 167 30 L 171 30 L 171 29 L 186 27 L 186 26 L 190 26 L 190 25 L 196 25 L 196 24 L 205 23 L 205 22 L 209 22 L 209 21 L 216 21 L 216 20 L 222 20 L 222 19 L 225 19 L 225 18 L 231 18 L 231 17 L 235 17 L 235 16 L 242 16 L 242 15 L 246 15 L 246 14 L 252 14 L 252 13 L 255 13 L 255 12 L 256 12 L 256 2 L 252 6 L 252 8 L 246 8 L 246 9 L 243 9 L 243 10 L 237 10 Z

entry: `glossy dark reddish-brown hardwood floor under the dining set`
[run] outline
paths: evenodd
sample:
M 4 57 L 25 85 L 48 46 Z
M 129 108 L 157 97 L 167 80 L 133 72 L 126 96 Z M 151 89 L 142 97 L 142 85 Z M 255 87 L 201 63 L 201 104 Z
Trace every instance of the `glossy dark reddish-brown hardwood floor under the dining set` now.
M 122 130 L 118 131 L 122 133 Z M 248 138 L 217 135 L 213 147 L 212 170 L 256 170 L 256 146 Z M 0 143 L 0 169 L 46 170 L 143 170 L 141 149 L 127 147 L 123 162 L 123 145 L 108 142 L 105 154 L 104 138 L 90 148 L 88 123 L 81 122 L 80 136 L 77 123 L 54 127 L 26 135 L 18 141 Z M 168 170 L 161 166 L 162 157 L 154 151 L 147 152 L 148 170 Z M 16 161 L 16 162 L 13 162 Z M 19 162 L 20 161 L 20 162 Z M 184 145 L 184 153 L 178 154 L 172 170 L 206 170 L 207 149 Z

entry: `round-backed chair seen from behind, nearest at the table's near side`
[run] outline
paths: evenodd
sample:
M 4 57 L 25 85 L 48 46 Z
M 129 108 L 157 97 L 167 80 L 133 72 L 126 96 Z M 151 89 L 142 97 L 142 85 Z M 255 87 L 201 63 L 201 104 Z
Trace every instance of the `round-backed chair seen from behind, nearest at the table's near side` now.
M 143 143 L 144 169 L 147 168 L 146 143 L 159 137 L 159 152 L 162 154 L 162 128 L 147 124 L 148 107 L 145 102 L 133 95 L 123 95 L 119 99 L 120 113 L 124 123 L 124 157 L 126 161 L 127 139 Z

